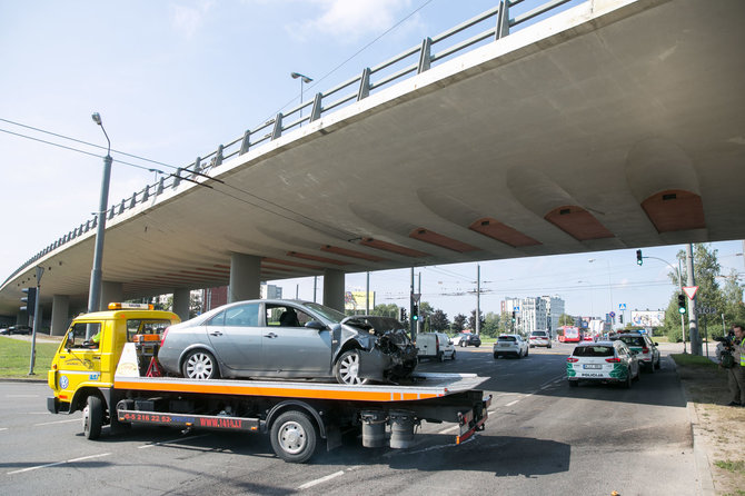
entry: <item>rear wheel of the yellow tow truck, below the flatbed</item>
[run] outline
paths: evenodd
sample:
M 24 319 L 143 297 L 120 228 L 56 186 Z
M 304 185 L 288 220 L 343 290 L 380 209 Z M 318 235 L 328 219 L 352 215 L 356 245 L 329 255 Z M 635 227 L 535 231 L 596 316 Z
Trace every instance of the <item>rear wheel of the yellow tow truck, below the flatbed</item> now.
M 316 452 L 316 426 L 301 411 L 285 411 L 271 424 L 271 447 L 285 462 L 304 464 Z

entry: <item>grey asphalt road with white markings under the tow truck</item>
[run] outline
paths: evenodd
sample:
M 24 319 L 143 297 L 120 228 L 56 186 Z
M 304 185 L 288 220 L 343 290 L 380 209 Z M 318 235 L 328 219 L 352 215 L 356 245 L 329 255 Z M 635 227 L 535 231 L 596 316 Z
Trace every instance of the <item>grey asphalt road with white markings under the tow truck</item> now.
M 87 440 L 79 413 L 46 411 L 46 385 L 0 383 L 0 493 L 697 494 L 686 403 L 667 359 L 628 390 L 569 388 L 570 349 L 495 360 L 483 346 L 423 363 L 423 371 L 490 377 L 486 430 L 456 446 L 454 424 L 424 424 L 411 448 L 357 440 L 307 465 L 279 460 L 261 435 L 135 427 Z

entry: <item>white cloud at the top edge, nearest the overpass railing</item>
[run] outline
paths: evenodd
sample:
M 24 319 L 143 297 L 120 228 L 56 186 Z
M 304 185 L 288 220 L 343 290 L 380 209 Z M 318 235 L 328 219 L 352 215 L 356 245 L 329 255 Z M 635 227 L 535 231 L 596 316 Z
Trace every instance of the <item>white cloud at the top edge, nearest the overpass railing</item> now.
M 356 41 L 371 33 L 379 34 L 408 14 L 410 0 L 311 0 L 318 16 L 289 27 L 290 32 L 307 39 L 312 33 L 330 34 Z

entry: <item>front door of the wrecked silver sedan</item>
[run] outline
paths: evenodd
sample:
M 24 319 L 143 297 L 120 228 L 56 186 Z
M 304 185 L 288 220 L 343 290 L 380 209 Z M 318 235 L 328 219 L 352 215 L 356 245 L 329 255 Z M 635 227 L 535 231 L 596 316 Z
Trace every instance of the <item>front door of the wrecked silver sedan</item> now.
M 282 315 L 287 311 L 295 311 L 297 321 L 285 321 Z M 265 370 L 298 377 L 331 375 L 330 330 L 305 327 L 308 321 L 320 319 L 299 307 L 276 304 L 266 305 L 265 319 L 261 334 Z

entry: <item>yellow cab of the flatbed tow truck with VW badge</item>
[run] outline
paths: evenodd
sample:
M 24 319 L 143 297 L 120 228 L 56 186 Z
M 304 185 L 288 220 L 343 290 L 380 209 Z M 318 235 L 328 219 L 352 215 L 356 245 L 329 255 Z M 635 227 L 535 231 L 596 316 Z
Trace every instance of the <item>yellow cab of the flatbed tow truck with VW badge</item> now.
M 76 317 L 54 354 L 47 375 L 53 397 L 47 407 L 54 414 L 71 414 L 86 407 L 90 395 L 103 395 L 113 385 L 113 375 L 125 344 L 136 336 L 160 335 L 179 317 L 153 310 L 151 305 L 110 304 L 108 311 Z

